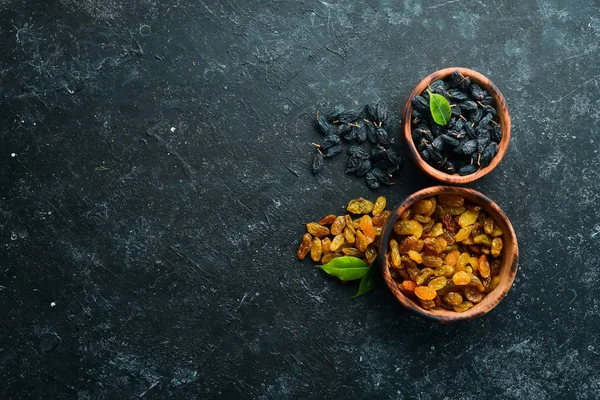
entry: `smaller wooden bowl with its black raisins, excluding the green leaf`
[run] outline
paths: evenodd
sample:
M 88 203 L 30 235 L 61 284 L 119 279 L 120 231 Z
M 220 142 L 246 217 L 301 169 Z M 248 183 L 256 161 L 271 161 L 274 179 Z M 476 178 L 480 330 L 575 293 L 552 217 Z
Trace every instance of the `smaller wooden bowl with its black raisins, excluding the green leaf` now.
M 450 103 L 451 119 L 433 121 L 429 93 Z M 510 114 L 504 96 L 488 78 L 466 68 L 446 68 L 423 79 L 402 113 L 409 153 L 427 175 L 466 184 L 490 173 L 510 141 Z

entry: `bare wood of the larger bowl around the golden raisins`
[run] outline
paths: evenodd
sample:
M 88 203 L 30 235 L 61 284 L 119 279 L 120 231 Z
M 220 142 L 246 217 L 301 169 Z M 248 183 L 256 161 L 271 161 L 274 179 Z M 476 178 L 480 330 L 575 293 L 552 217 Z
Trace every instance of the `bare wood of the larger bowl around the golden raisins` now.
M 437 196 L 439 194 L 458 194 L 463 196 L 465 201 L 481 206 L 489 216 L 494 218 L 498 226 L 500 226 L 500 229 L 504 231 L 504 235 L 502 236 L 504 247 L 503 262 L 502 266 L 500 267 L 500 284 L 496 287 L 496 289 L 488 293 L 483 298 L 481 303 L 475 304 L 471 309 L 462 313 L 446 309 L 426 310 L 422 308 L 418 303 L 405 296 L 404 293 L 398 289 L 388 267 L 388 247 L 390 236 L 394 232 L 393 226 L 398 220 L 400 214 L 402 214 L 402 212 L 411 207 L 417 201 L 431 196 Z M 517 245 L 515 231 L 513 230 L 508 217 L 506 214 L 504 214 L 500 207 L 498 207 L 498 205 L 488 197 L 473 189 L 455 186 L 434 186 L 413 193 L 392 212 L 386 223 L 384 231 L 381 234 L 379 255 L 379 265 L 381 267 L 384 280 L 388 288 L 392 291 L 393 295 L 405 308 L 432 321 L 442 324 L 450 324 L 455 322 L 470 321 L 481 317 L 494 308 L 500 302 L 500 300 L 506 296 L 517 273 L 519 248 Z

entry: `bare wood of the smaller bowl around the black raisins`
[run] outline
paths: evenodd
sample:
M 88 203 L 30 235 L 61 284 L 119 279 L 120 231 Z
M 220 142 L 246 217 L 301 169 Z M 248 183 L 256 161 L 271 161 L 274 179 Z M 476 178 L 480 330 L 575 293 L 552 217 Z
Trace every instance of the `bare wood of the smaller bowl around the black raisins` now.
M 412 139 L 411 129 L 413 98 L 415 96 L 421 95 L 421 93 L 423 93 L 427 86 L 429 86 L 433 81 L 436 81 L 438 79 L 445 79 L 456 70 L 460 71 L 460 73 L 464 76 L 468 76 L 469 78 L 471 78 L 471 82 L 477 83 L 481 88 L 487 90 L 488 93 L 496 99 L 496 111 L 498 111 L 498 119 L 500 121 L 500 125 L 502 126 L 502 140 L 498 144 L 498 153 L 494 156 L 490 165 L 488 165 L 485 168 L 479 169 L 473 174 L 465 176 L 460 176 L 458 173 L 452 175 L 447 174 L 427 164 L 421 158 L 421 155 L 417 151 L 417 147 L 415 146 Z M 496 168 L 496 166 L 504 157 L 504 154 L 508 149 L 508 143 L 510 142 L 510 114 L 508 113 L 508 107 L 506 106 L 506 100 L 504 100 L 504 96 L 502 96 L 500 90 L 498 90 L 496 85 L 494 85 L 492 81 L 490 81 L 488 78 L 486 78 L 479 72 L 467 68 L 446 68 L 436 71 L 433 74 L 429 75 L 427 78 L 423 79 L 414 88 L 410 96 L 408 96 L 408 100 L 404 105 L 404 111 L 402 112 L 402 129 L 404 131 L 404 138 L 406 139 L 406 143 L 408 144 L 409 153 L 423 172 L 444 183 L 463 185 L 466 183 L 474 182 L 477 179 L 489 174 L 494 168 Z

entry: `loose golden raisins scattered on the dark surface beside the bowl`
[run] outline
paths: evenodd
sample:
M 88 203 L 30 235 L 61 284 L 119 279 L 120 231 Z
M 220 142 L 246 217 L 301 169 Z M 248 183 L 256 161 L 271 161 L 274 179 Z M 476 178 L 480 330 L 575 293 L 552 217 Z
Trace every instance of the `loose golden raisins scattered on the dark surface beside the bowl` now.
M 307 233 L 298 247 L 298 258 L 309 253 L 314 262 L 327 264 L 336 257 L 353 256 L 370 264 L 377 257 L 379 236 L 390 215 L 385 210 L 386 199 L 378 197 L 375 203 L 363 199 L 351 200 L 346 210 L 350 214 L 327 215 L 319 222 L 306 224 Z M 356 217 L 356 215 L 361 215 Z

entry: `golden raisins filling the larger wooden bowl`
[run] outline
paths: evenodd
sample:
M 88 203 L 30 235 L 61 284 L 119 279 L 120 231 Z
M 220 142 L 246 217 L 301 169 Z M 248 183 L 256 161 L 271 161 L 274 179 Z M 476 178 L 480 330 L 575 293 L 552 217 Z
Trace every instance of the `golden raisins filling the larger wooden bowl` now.
M 462 196 L 417 201 L 400 215 L 394 232 L 391 276 L 425 309 L 467 311 L 500 283 L 503 232 Z

